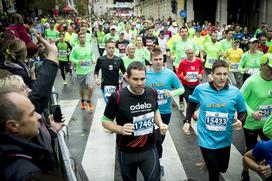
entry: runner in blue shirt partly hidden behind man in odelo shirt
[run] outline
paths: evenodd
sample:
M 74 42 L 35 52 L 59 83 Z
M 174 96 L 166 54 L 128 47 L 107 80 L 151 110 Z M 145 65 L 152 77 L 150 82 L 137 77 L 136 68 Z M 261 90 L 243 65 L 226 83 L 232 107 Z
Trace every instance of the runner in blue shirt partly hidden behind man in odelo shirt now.
M 153 87 L 158 93 L 158 105 L 164 124 L 168 125 L 171 118 L 171 97 L 184 93 L 184 88 L 175 73 L 163 67 L 163 54 L 160 48 L 154 48 L 151 52 L 152 66 L 147 69 L 146 85 Z M 174 90 L 173 90 L 174 89 Z M 162 158 L 162 143 L 165 135 L 156 129 L 156 144 L 159 158 Z M 164 175 L 164 167 L 161 165 L 161 175 Z

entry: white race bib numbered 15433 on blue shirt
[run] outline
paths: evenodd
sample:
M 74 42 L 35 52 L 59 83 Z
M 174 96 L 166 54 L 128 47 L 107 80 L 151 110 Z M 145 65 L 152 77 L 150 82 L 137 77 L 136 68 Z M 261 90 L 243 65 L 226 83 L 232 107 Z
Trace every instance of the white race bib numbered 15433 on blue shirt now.
M 228 113 L 206 112 L 206 128 L 210 131 L 225 131 L 227 122 Z

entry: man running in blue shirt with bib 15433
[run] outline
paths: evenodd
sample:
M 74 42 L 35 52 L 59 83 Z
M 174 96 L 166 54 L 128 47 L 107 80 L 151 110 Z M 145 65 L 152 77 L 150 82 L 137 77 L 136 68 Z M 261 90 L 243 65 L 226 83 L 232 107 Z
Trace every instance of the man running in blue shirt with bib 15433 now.
M 184 122 L 190 122 L 199 105 L 198 144 L 210 181 L 228 169 L 233 129 L 240 130 L 247 114 L 239 89 L 227 83 L 229 65 L 217 60 L 211 69 L 213 81 L 198 85 L 189 98 Z M 235 112 L 238 112 L 235 118 Z

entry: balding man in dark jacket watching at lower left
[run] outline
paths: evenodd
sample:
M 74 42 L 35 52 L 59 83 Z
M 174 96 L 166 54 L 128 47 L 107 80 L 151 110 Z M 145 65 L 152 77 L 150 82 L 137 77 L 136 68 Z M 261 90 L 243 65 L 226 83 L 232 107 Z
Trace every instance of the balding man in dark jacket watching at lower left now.
M 49 150 L 32 142 L 39 134 L 41 115 L 31 101 L 16 92 L 0 93 L 0 175 L 24 180 L 55 172 Z

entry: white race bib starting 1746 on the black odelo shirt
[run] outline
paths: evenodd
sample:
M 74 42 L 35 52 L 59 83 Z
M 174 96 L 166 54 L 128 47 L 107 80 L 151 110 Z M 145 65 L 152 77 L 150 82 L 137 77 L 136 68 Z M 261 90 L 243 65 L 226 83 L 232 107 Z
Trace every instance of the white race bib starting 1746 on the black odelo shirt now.
M 154 112 L 133 117 L 134 136 L 141 136 L 153 133 Z

